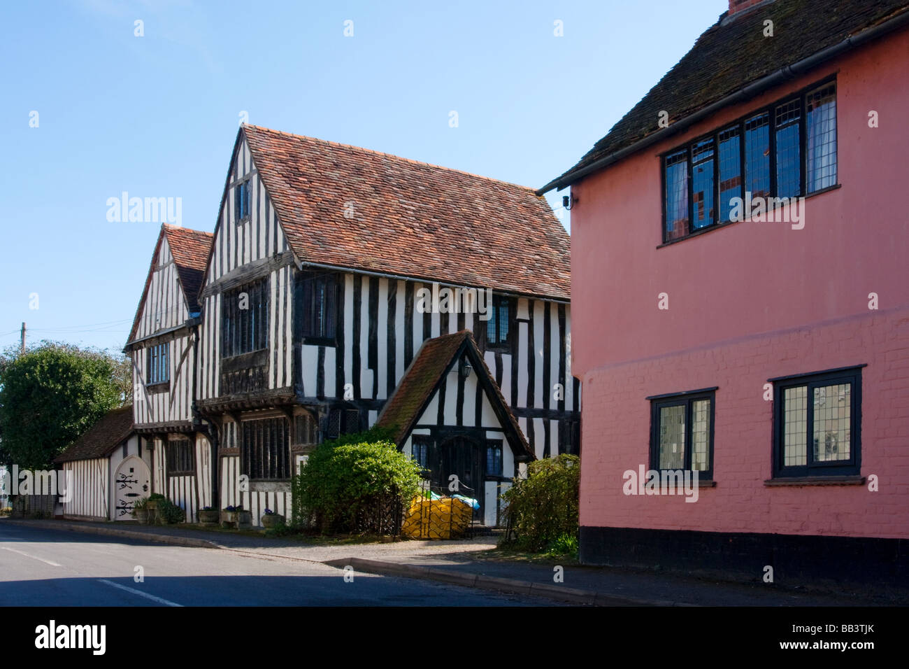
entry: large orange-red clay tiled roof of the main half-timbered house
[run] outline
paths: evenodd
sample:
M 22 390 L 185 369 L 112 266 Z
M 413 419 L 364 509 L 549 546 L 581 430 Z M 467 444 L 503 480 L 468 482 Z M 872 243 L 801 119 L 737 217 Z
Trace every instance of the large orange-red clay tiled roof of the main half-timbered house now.
M 299 261 L 570 298 L 568 234 L 531 188 L 265 127 L 240 132 Z

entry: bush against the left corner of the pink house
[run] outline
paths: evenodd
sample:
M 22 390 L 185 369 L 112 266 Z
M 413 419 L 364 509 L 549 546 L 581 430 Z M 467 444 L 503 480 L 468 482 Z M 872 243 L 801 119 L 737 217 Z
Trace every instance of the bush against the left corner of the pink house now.
M 527 466 L 527 478 L 502 495 L 514 547 L 523 551 L 566 548 L 578 534 L 581 461 L 576 455 L 544 458 Z

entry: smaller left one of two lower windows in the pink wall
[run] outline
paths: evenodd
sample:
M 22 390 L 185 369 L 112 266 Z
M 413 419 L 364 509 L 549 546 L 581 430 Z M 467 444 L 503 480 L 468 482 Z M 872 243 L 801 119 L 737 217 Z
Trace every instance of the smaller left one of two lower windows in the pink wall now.
M 714 390 L 654 398 L 651 404 L 651 466 L 714 476 Z

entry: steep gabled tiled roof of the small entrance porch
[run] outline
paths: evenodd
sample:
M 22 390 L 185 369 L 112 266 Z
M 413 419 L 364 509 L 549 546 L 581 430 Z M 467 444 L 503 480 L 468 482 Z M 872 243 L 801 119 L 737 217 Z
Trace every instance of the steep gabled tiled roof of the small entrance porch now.
M 502 422 L 505 433 L 510 436 L 509 443 L 515 455 L 522 461 L 534 460 L 533 451 L 524 439 L 524 432 L 508 408 L 508 403 L 496 385 L 492 372 L 486 366 L 483 355 L 476 348 L 470 330 L 466 329 L 423 342 L 395 392 L 385 402 L 376 425 L 393 430 L 395 442 L 403 443 L 415 421 L 425 410 L 426 404 L 432 400 L 445 372 L 449 370 L 449 365 L 462 354 L 471 361 L 481 385 L 491 393 L 493 409 Z

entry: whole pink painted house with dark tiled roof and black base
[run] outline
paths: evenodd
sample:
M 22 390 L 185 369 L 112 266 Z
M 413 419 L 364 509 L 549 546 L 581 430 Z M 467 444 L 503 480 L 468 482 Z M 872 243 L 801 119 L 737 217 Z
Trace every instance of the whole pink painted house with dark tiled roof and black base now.
M 729 5 L 540 190 L 571 188 L 581 558 L 907 583 L 909 3 Z

